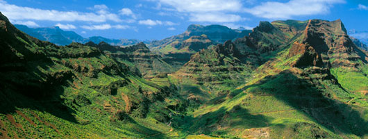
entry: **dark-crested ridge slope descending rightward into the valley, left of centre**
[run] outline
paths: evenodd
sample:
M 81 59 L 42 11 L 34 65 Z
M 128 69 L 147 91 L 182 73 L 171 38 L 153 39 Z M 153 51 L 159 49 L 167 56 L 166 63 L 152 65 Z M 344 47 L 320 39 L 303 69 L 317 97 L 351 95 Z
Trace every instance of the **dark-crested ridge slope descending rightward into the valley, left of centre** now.
M 143 42 L 130 47 L 111 46 L 106 42 L 94 44 L 87 42 L 86 45 L 98 47 L 106 55 L 117 58 L 122 63 L 130 65 L 132 70 L 142 74 L 146 79 L 151 79 L 158 74 L 174 72 L 171 65 L 165 63 L 158 54 L 153 54 Z

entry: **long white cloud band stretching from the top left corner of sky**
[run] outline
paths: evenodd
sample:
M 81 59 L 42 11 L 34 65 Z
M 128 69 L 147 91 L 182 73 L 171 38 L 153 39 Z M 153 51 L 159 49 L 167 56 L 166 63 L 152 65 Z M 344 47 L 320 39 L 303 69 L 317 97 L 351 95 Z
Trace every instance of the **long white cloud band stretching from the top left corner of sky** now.
M 22 6 L 15 6 L 6 1 L 0 1 L 0 11 L 12 20 L 47 20 L 47 21 L 83 21 L 83 22 L 106 22 L 114 21 L 121 22 L 119 16 L 116 14 L 108 13 L 104 6 L 97 6 L 100 8 L 97 13 L 81 13 L 76 11 L 59 11 L 59 10 L 43 10 L 39 8 L 29 8 Z

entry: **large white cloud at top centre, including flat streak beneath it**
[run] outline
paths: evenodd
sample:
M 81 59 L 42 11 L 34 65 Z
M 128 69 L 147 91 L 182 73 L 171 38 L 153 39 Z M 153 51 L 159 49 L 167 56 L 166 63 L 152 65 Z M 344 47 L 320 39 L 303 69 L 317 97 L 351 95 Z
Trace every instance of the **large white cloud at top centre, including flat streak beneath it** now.
M 240 0 L 157 0 L 158 6 L 169 6 L 161 8 L 171 11 L 172 8 L 179 13 L 189 15 L 192 22 L 238 22 L 242 19 L 235 13 L 243 9 Z M 167 15 L 168 13 L 159 13 Z

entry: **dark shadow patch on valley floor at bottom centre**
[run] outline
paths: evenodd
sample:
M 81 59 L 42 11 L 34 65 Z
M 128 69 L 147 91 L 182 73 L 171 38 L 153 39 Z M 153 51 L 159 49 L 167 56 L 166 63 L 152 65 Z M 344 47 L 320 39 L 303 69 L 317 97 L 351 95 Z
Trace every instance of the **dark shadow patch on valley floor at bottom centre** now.
M 185 116 L 176 118 L 178 129 L 187 134 L 206 134 L 224 138 L 233 138 L 228 135 L 228 127 L 236 128 L 242 126 L 245 129 L 261 128 L 269 126 L 269 117 L 263 115 L 253 115 L 248 110 L 240 106 L 234 106 L 230 110 L 221 107 L 217 111 L 212 111 L 196 117 Z

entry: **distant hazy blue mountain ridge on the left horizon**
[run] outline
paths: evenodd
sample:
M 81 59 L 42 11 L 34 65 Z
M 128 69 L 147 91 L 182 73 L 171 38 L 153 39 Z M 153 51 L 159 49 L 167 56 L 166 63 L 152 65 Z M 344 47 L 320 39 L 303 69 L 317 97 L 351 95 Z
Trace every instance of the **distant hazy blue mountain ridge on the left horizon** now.
M 141 42 L 137 39 L 108 39 L 103 38 L 101 36 L 93 36 L 90 38 L 83 38 L 81 35 L 78 35 L 74 31 L 64 31 L 58 26 L 53 26 L 49 28 L 29 28 L 28 26 L 15 24 L 20 31 L 27 33 L 39 40 L 49 41 L 54 44 L 58 45 L 67 45 L 71 44 L 72 42 L 79 42 L 79 43 L 86 43 L 86 42 L 107 42 L 108 44 L 112 45 L 131 45 L 131 44 L 138 44 Z M 146 40 L 145 43 L 149 43 L 150 41 Z

